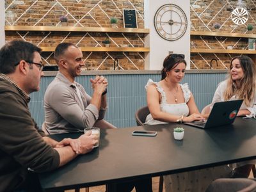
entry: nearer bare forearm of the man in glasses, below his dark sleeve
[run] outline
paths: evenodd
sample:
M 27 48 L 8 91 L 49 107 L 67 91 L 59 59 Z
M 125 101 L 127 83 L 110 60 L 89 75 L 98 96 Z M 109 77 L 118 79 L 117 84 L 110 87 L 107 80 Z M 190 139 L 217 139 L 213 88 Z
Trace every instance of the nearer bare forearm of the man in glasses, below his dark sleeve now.
M 78 154 L 76 154 L 70 146 L 54 148 L 54 149 L 57 150 L 60 155 L 59 166 L 63 166 L 64 164 L 68 163 L 69 161 L 74 159 L 76 156 L 78 156 Z

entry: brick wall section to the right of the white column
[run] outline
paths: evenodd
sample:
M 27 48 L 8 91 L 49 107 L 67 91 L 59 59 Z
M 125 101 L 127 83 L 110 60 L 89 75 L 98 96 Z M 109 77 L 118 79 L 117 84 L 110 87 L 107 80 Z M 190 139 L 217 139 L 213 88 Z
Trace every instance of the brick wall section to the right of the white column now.
M 191 31 L 255 34 L 256 1 L 244 0 L 243 5 L 249 13 L 248 21 L 244 25 L 237 26 L 231 19 L 231 13 L 237 7 L 237 1 L 191 0 Z M 215 23 L 219 23 L 221 28 L 214 29 Z M 253 31 L 247 31 L 248 24 L 253 24 Z M 191 48 L 227 49 L 227 46 L 233 46 L 233 49 L 248 49 L 248 38 L 191 35 Z M 218 66 L 214 62 L 213 68 L 229 68 L 231 58 L 236 55 L 240 54 L 191 53 L 191 68 L 209 68 L 212 58 L 218 60 Z

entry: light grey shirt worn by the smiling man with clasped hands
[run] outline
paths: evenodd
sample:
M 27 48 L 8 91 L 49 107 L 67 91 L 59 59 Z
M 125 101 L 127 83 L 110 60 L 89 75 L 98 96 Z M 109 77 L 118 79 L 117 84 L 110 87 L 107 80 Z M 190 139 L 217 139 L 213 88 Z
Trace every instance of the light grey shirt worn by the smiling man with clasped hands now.
M 104 118 L 106 110 L 98 111 L 95 105 L 90 104 L 91 99 L 81 84 L 70 83 L 58 72 L 44 96 L 47 131 L 50 134 L 83 132 L 84 128 L 93 127 L 96 120 Z

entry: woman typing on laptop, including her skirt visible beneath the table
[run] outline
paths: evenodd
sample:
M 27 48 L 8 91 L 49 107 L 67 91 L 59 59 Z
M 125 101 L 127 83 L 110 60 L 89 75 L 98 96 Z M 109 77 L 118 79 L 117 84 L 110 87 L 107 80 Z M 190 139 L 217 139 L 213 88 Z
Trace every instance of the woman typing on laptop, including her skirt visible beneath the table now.
M 148 80 L 145 88 L 147 90 L 147 104 L 150 115 L 147 116 L 145 124 L 192 122 L 204 119 L 196 107 L 188 84 L 180 84 L 184 77 L 185 69 L 186 61 L 184 60 L 184 55 L 170 54 L 164 59 L 162 80 L 159 82 Z M 205 191 L 212 180 L 229 177 L 230 172 L 231 170 L 228 166 L 220 166 L 166 175 L 164 176 L 164 185 L 166 191 Z

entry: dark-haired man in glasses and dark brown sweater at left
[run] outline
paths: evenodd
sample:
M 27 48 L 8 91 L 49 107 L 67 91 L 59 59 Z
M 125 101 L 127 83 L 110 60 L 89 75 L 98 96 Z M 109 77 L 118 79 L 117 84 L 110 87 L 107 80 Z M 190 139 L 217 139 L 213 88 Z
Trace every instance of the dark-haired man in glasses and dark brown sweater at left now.
M 44 75 L 40 51 L 19 40 L 0 49 L 0 191 L 40 191 L 28 169 L 51 171 L 90 152 L 97 143 L 97 136 L 90 133 L 58 143 L 38 129 L 28 102 Z

